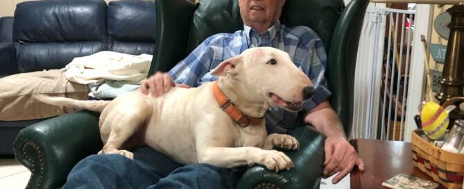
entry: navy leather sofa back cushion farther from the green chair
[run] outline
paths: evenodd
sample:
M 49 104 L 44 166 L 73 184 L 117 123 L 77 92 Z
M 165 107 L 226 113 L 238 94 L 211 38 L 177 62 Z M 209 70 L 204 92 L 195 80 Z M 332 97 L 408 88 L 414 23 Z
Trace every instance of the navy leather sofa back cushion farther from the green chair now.
M 103 0 L 17 4 L 13 38 L 19 72 L 65 67 L 74 57 L 108 49 Z

